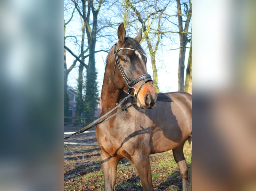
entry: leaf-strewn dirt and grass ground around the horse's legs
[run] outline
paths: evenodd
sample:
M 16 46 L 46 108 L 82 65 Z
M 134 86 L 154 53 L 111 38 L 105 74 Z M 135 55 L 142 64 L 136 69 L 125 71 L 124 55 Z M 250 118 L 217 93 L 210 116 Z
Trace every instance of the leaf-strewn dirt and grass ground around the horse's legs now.
M 83 126 L 66 125 L 65 132 L 80 130 Z M 104 190 L 104 177 L 100 163 L 100 151 L 94 129 L 69 138 L 65 142 L 93 145 L 64 145 L 65 191 Z M 184 146 L 184 155 L 190 164 L 191 150 Z M 179 191 L 182 188 L 178 166 L 172 151 L 150 155 L 154 190 Z M 116 191 L 143 190 L 135 166 L 127 159 L 119 162 Z

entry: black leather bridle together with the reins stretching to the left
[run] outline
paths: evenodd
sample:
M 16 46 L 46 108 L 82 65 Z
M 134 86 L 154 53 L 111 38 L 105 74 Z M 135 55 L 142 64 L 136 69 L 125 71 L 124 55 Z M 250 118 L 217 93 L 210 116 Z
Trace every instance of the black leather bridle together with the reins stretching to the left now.
M 129 97 L 133 97 L 133 98 L 134 98 L 136 95 L 138 95 L 138 93 L 139 93 L 139 91 L 141 90 L 142 86 L 143 86 L 146 82 L 148 82 L 148 81 L 153 82 L 153 80 L 152 80 L 152 78 L 151 78 L 151 76 L 150 76 L 149 74 L 143 74 L 143 75 L 141 75 L 140 77 L 138 77 L 138 78 L 136 78 L 135 80 L 133 80 L 132 82 L 130 82 L 130 81 L 128 80 L 128 78 L 127 78 L 126 75 L 124 74 L 124 71 L 123 71 L 123 69 L 122 69 L 122 67 L 121 67 L 121 64 L 120 64 L 119 59 L 118 59 L 118 56 L 117 56 L 117 53 L 118 53 L 120 50 L 122 50 L 122 49 L 129 49 L 129 50 L 133 50 L 133 51 L 140 51 L 140 50 L 135 50 L 135 49 L 127 48 L 127 47 L 120 48 L 120 49 L 117 50 L 117 43 L 115 44 L 115 57 L 116 57 L 116 62 L 115 62 L 115 66 L 114 66 L 114 70 L 113 70 L 113 77 L 112 77 L 113 85 L 114 85 L 114 87 L 116 88 L 116 86 L 115 86 L 115 84 L 114 84 L 114 75 L 115 75 L 115 69 L 116 69 L 116 64 L 117 64 L 117 65 L 118 65 L 118 68 L 119 68 L 119 70 L 120 70 L 120 72 L 121 72 L 121 75 L 122 75 L 122 77 L 123 77 L 123 79 L 124 79 L 124 82 L 125 82 L 125 84 L 126 84 L 126 86 L 127 86 L 127 88 L 128 88 L 128 95 L 127 95 L 126 97 L 124 97 L 120 103 L 116 103 L 116 106 L 115 106 L 113 109 L 111 109 L 109 112 L 105 113 L 104 115 L 102 115 L 101 117 L 99 117 L 98 119 L 96 119 L 95 121 L 93 121 L 92 123 L 90 123 L 89 125 L 87 125 L 87 126 L 85 126 L 84 128 L 80 129 L 79 131 L 77 131 L 77 132 L 75 132 L 75 133 L 73 133 L 73 134 L 70 134 L 70 135 L 65 136 L 65 137 L 64 137 L 64 140 L 66 140 L 66 139 L 68 139 L 68 138 L 70 138 L 70 137 L 72 137 L 72 136 L 78 135 L 78 134 L 80 134 L 80 133 L 82 133 L 82 132 L 84 132 L 84 131 L 86 131 L 86 130 L 88 130 L 88 129 L 91 129 L 91 128 L 93 128 L 94 126 L 96 126 L 96 125 L 98 125 L 98 124 L 100 124 L 100 123 L 102 123 L 102 122 L 104 122 L 104 121 L 109 120 L 110 118 L 116 116 L 117 114 L 119 114 L 119 113 L 121 113 L 121 112 L 123 112 L 123 111 L 128 112 L 127 109 L 128 109 L 129 107 L 133 106 L 134 104 L 136 104 L 136 102 L 134 102 L 134 103 L 132 103 L 132 104 L 130 104 L 130 105 L 124 107 L 123 109 L 121 109 L 121 110 L 117 111 L 116 113 L 110 115 L 109 117 L 103 119 L 103 118 L 106 117 L 108 114 L 110 114 L 110 113 L 113 112 L 115 109 L 117 109 L 117 107 L 122 108 L 121 105 L 122 105 Z M 137 84 L 138 82 L 142 81 L 142 80 L 144 80 L 144 81 L 143 81 L 143 83 L 141 84 L 141 86 L 140 86 L 138 92 L 136 92 L 136 89 L 135 89 L 133 86 L 134 86 L 135 84 Z M 133 95 L 132 95 L 131 89 L 134 89 Z

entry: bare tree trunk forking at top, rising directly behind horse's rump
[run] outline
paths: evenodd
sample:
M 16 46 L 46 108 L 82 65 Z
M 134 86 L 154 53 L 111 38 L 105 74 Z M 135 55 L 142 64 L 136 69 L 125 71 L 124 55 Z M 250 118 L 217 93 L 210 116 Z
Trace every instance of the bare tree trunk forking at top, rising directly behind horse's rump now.
M 187 3 L 183 3 L 185 15 L 181 13 L 180 0 L 176 0 L 177 2 L 177 16 L 178 16 L 178 28 L 179 28 L 179 41 L 180 41 L 180 49 L 179 49 L 179 64 L 178 64 L 178 91 L 184 91 L 184 69 L 185 69 L 185 53 L 186 53 L 186 45 L 190 41 L 188 38 L 188 27 L 190 18 L 192 15 L 192 3 L 189 0 L 189 8 Z M 186 17 L 185 26 L 183 29 L 183 20 L 182 16 Z

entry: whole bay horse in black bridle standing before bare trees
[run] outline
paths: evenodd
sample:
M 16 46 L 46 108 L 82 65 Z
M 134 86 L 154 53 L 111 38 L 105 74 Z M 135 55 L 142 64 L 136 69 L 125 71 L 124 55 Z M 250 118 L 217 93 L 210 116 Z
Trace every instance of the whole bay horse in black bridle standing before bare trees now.
M 133 39 L 125 37 L 123 23 L 118 27 L 118 42 L 111 48 L 101 92 L 104 115 L 126 95 L 125 105 L 132 105 L 108 121 L 96 126 L 96 138 L 101 147 L 101 165 L 105 190 L 115 189 L 117 165 L 129 159 L 138 171 L 143 189 L 153 190 L 149 155 L 173 151 L 182 179 L 182 190 L 187 190 L 188 164 L 183 154 L 186 140 L 191 145 L 191 95 L 182 92 L 165 93 L 159 99 L 146 70 L 145 52 L 139 42 L 142 30 Z M 118 65 L 118 67 L 116 67 Z M 158 98 L 157 98 L 158 96 Z M 117 108 L 114 112 L 120 111 Z

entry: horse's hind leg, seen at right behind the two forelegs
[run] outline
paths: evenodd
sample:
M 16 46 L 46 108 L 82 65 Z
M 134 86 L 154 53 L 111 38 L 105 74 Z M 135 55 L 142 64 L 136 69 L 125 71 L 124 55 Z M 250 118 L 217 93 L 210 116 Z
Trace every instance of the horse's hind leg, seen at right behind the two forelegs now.
M 188 164 L 183 154 L 183 145 L 172 149 L 173 157 L 179 166 L 179 174 L 182 180 L 182 191 L 187 191 Z

